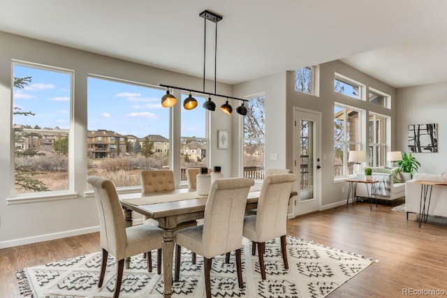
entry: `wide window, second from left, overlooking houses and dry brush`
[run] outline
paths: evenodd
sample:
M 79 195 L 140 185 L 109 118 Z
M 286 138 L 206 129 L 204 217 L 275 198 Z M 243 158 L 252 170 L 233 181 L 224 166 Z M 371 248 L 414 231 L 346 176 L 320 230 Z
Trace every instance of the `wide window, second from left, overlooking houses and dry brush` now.
M 94 75 L 87 84 L 87 175 L 122 188 L 140 186 L 140 170 L 169 167 L 168 154 L 156 144 L 169 144 L 169 109 L 160 104 L 166 90 Z

